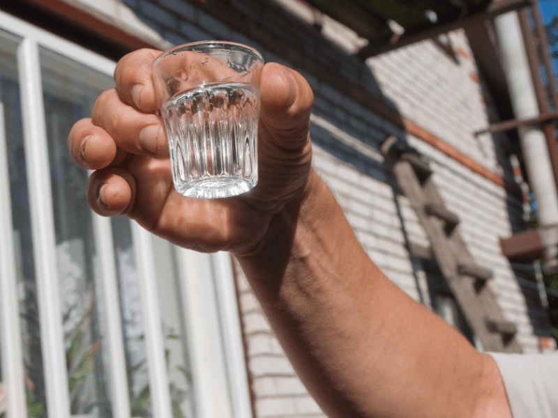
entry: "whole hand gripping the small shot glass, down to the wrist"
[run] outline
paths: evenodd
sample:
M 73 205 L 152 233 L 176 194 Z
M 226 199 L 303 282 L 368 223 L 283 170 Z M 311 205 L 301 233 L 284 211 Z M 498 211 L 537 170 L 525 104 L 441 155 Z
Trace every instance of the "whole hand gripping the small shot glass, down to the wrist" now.
M 99 215 L 127 215 L 176 245 L 197 251 L 250 254 L 264 245 L 271 219 L 308 193 L 313 95 L 306 80 L 276 63 L 264 66 L 260 91 L 259 183 L 228 199 L 192 199 L 172 185 L 165 127 L 158 116 L 151 63 L 142 49 L 116 65 L 116 88 L 78 121 L 68 148 L 84 168 L 89 205 Z M 296 204 L 294 205 L 296 206 Z

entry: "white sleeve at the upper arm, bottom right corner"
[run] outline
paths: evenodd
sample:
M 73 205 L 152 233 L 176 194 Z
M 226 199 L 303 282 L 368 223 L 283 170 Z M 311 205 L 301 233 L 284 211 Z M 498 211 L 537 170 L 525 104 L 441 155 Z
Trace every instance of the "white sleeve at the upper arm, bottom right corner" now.
M 502 374 L 513 418 L 558 417 L 558 353 L 488 353 Z

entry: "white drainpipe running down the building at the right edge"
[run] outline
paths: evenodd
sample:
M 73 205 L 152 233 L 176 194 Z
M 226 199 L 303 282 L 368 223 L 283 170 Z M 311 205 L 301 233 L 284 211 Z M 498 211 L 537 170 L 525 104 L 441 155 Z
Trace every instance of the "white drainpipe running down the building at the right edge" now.
M 506 13 L 495 18 L 494 22 L 515 118 L 536 118 L 540 109 L 518 13 Z M 524 125 L 518 128 L 518 132 L 527 176 L 538 204 L 539 234 L 545 247 L 545 262 L 548 267 L 554 267 L 558 256 L 558 193 L 545 134 L 539 125 Z

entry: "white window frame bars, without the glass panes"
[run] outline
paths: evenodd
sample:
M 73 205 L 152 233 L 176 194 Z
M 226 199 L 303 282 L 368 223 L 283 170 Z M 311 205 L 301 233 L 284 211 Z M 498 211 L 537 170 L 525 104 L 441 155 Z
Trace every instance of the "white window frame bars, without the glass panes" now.
M 20 77 L 24 146 L 33 254 L 38 284 L 41 341 L 45 364 L 47 414 L 70 418 L 68 376 L 63 358 L 63 333 L 56 268 L 54 217 L 43 109 L 39 47 L 79 61 L 107 75 L 115 63 L 68 40 L 59 38 L 23 20 L 0 11 L 0 29 L 21 38 L 17 49 Z M 0 112 L 3 116 L 3 113 Z M 0 341 L 2 365 L 8 393 L 8 418 L 27 418 L 23 382 L 19 311 L 17 308 L 14 241 L 11 226 L 10 193 L 6 164 L 6 141 L 0 120 Z M 103 313 L 120 317 L 116 268 L 110 219 L 93 215 L 94 233 L 103 272 Z M 153 238 L 132 224 L 137 268 L 140 272 L 145 341 L 149 364 L 149 384 L 153 417 L 172 418 L 165 349 L 160 327 L 160 310 L 151 245 Z M 188 330 L 188 349 L 193 369 L 197 418 L 251 418 L 252 408 L 246 376 L 246 360 L 234 291 L 232 265 L 228 254 L 197 254 L 176 249 L 181 272 L 181 302 Z M 130 417 L 130 401 L 121 322 L 107 321 L 110 389 L 114 394 L 115 418 Z M 75 418 L 75 416 L 73 416 Z

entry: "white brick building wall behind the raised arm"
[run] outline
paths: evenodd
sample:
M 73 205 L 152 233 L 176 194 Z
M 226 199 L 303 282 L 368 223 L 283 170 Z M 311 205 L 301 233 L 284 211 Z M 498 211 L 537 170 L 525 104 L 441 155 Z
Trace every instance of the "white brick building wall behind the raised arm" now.
M 94 4 L 68 1 L 86 8 Z M 506 137 L 473 134 L 488 124 L 493 111 L 486 107 L 490 98 L 483 93 L 462 32 L 449 34 L 457 61 L 426 40 L 365 64 L 347 54 L 347 45 L 324 40 L 311 24 L 271 1 L 123 0 L 118 3 L 119 16 L 110 15 L 107 10 L 116 10 L 110 7 L 96 10 L 104 10 L 105 17 L 113 20 L 132 13 L 142 22 L 135 30 L 143 26 L 160 45 L 222 38 L 252 45 L 266 61 L 300 70 L 315 92 L 311 127 L 315 168 L 337 196 L 372 260 L 403 291 L 429 306 L 422 265 L 412 262 L 406 247 L 407 240 L 423 246 L 428 240 L 377 153 L 379 142 L 388 134 L 408 141 L 430 160 L 448 209 L 462 219 L 463 238 L 477 263 L 494 272 L 489 286 L 499 295 L 506 317 L 518 324 L 522 347 L 527 352 L 540 350 L 525 289 L 518 285 L 499 247 L 499 238 L 522 225 L 522 196 L 504 187 L 513 181 L 504 153 Z M 329 38 L 335 38 L 335 31 Z M 338 80 L 347 82 L 342 86 L 359 88 L 343 90 Z M 362 97 L 369 102 L 358 100 Z M 393 120 L 379 116 L 370 98 L 397 109 L 402 125 L 412 129 L 405 132 Z M 364 144 L 364 150 L 358 144 Z M 476 164 L 473 168 L 472 163 Z M 236 270 L 257 418 L 322 417 L 296 378 L 241 271 Z

